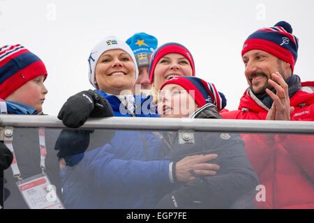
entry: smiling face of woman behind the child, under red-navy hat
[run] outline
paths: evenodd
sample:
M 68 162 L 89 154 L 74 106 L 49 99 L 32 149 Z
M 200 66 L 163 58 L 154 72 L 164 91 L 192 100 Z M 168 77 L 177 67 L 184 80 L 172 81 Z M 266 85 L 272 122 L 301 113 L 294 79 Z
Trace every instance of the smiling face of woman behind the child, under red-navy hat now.
M 181 54 L 166 54 L 157 63 L 154 71 L 154 87 L 159 89 L 172 77 L 192 76 L 190 62 Z

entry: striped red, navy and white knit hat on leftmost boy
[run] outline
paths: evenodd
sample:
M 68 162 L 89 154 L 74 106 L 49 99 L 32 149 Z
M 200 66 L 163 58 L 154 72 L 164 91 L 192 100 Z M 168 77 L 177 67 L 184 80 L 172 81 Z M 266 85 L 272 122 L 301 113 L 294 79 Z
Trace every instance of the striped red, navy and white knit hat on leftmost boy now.
M 0 98 L 6 99 L 31 79 L 45 75 L 47 70 L 38 56 L 21 45 L 0 48 Z

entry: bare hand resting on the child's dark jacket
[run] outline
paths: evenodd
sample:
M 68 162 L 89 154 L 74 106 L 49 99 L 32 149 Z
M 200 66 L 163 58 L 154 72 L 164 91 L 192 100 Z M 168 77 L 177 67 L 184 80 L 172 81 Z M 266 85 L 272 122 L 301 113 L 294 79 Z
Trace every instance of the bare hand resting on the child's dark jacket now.
M 186 183 L 193 180 L 195 176 L 215 176 L 216 171 L 220 169 L 218 164 L 209 164 L 209 160 L 214 160 L 218 157 L 217 154 L 207 155 L 192 155 L 185 157 L 176 164 L 177 180 L 181 183 Z M 192 171 L 192 173 L 191 173 Z

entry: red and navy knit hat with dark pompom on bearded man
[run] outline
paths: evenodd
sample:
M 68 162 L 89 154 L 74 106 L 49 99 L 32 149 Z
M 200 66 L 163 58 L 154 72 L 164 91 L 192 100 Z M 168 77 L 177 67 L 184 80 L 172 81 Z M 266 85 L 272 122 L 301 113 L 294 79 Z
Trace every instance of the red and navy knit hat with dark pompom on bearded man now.
M 292 35 L 292 26 L 281 21 L 274 27 L 258 29 L 248 36 L 241 54 L 243 56 L 250 50 L 260 49 L 290 63 L 293 72 L 298 57 L 298 48 L 299 40 Z

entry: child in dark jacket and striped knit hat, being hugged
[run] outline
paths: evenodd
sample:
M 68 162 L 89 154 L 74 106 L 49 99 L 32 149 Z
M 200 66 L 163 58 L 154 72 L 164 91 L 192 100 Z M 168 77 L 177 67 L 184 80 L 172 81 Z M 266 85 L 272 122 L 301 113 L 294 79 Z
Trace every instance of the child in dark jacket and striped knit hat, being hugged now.
M 221 118 L 219 111 L 226 103 L 214 84 L 197 77 L 174 77 L 160 87 L 158 112 L 163 118 Z M 195 132 L 192 144 L 179 144 L 177 132 L 163 132 L 160 139 L 169 145 L 167 157 L 174 162 L 192 154 L 216 155 L 216 159 L 210 161 L 212 176 L 194 174 L 192 181 L 165 190 L 156 208 L 240 208 L 236 205 L 240 199 L 248 201 L 246 208 L 254 207 L 257 175 L 239 135 Z

